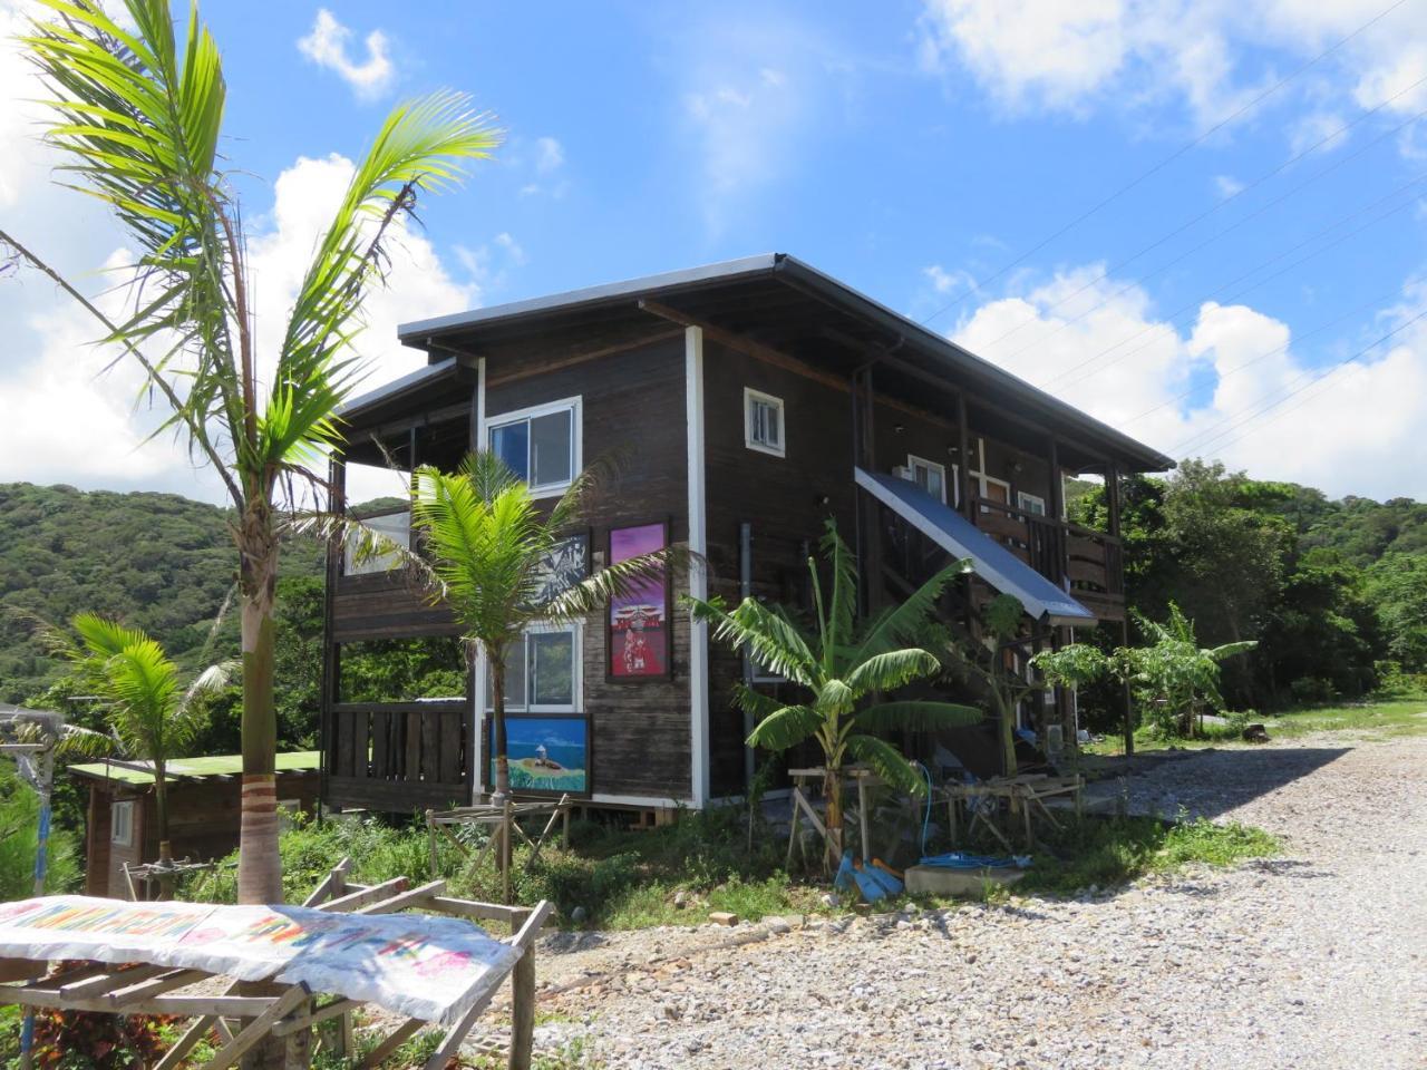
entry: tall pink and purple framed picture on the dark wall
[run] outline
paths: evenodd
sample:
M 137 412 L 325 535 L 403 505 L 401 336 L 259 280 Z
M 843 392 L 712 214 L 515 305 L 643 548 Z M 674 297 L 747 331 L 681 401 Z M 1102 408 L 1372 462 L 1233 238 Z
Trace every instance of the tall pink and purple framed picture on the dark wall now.
M 609 529 L 609 564 L 629 561 L 669 545 L 669 522 Z M 611 682 L 669 676 L 669 571 L 609 599 L 605 651 Z

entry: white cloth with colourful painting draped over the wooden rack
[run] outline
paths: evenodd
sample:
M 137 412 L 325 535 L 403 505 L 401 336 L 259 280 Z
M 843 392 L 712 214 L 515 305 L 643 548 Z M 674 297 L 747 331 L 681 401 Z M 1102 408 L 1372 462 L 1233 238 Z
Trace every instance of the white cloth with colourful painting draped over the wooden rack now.
M 93 959 L 297 984 L 454 1024 L 519 950 L 455 917 L 301 906 L 124 903 L 46 896 L 0 903 L 0 957 Z

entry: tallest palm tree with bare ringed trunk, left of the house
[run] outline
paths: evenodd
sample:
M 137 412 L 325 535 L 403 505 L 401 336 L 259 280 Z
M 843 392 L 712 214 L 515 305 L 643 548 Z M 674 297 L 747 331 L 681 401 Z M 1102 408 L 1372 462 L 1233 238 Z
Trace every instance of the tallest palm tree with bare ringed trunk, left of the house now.
M 128 311 L 114 322 L 13 235 L 14 260 L 53 278 L 143 368 L 168 415 L 231 501 L 243 643 L 243 806 L 238 899 L 278 902 L 273 703 L 280 545 L 293 512 L 330 488 L 317 475 L 340 447 L 334 417 L 361 377 L 351 348 L 361 305 L 384 280 L 391 225 L 418 194 L 461 177 L 498 143 L 464 96 L 398 106 L 355 168 L 313 254 L 283 340 L 260 352 L 243 214 L 220 161 L 225 83 L 193 6 L 183 47 L 167 0 L 126 0 L 124 24 L 94 0 L 43 0 L 24 43 L 54 111 L 47 136 L 67 173 L 98 197 L 138 250 Z M 131 29 L 130 29 L 131 27 Z

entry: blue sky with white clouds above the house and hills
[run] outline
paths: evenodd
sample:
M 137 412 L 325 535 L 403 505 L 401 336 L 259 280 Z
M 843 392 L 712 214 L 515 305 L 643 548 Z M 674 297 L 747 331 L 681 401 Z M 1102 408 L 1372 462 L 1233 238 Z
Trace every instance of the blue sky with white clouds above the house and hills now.
M 1176 455 L 1334 495 L 1427 498 L 1427 320 L 1414 320 L 1427 0 L 208 3 L 204 16 L 277 295 L 340 194 L 341 158 L 395 101 L 464 90 L 508 131 L 465 187 L 421 205 L 411 263 L 374 302 L 372 382 L 420 361 L 391 344 L 400 320 L 778 250 L 913 318 L 936 314 Z M 0 57 L 0 93 L 24 96 L 23 77 Z M 0 120 L 0 148 L 29 137 Z M 6 225 L 68 270 L 116 254 L 121 235 L 74 195 L 17 195 L 43 180 L 41 150 L 9 158 Z M 0 401 L 30 414 L 29 441 L 66 421 L 81 437 L 104 419 L 143 427 L 114 408 L 117 385 L 80 375 L 101 362 L 83 324 L 37 282 L 23 290 L 0 284 L 19 328 Z M 44 415 L 61 387 L 94 391 L 83 428 Z M 166 444 L 134 449 L 21 455 L 0 431 L 0 478 L 213 496 Z

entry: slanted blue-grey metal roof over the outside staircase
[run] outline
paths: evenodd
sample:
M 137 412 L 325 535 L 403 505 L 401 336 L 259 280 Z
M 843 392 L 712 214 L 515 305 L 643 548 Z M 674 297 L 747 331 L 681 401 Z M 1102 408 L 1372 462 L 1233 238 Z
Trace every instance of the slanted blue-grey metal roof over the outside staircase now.
M 1082 628 L 1096 622 L 1095 613 L 916 484 L 862 468 L 855 469 L 855 477 L 858 486 L 953 558 L 970 558 L 977 576 L 1002 593 L 1019 598 L 1037 621 Z

